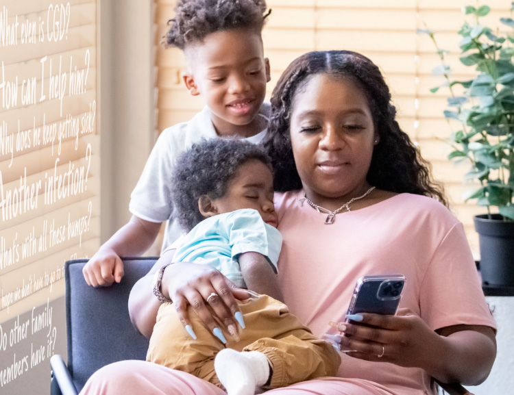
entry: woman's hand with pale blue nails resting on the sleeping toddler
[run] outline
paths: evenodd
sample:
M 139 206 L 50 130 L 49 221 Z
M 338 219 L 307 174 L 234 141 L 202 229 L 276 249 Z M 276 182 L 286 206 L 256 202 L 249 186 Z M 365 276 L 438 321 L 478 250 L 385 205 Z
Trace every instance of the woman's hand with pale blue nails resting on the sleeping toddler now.
M 246 299 L 248 293 L 236 287 L 221 272 L 206 265 L 179 262 L 168 266 L 162 277 L 162 293 L 173 301 L 180 321 L 188 332 L 191 329 L 188 305 L 195 309 L 205 326 L 221 341 L 223 336 L 219 336 L 219 330 L 226 329 L 237 337 L 236 325 L 245 327 L 236 298 Z

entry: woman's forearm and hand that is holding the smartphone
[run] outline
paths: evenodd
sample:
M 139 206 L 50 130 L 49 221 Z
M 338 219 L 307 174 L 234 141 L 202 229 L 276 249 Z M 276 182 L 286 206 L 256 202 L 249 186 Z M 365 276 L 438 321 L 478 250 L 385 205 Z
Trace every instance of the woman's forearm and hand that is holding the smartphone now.
M 399 309 L 396 316 L 354 318 L 358 320 L 330 323 L 345 333 L 335 341 L 352 357 L 421 368 L 443 383 L 465 385 L 480 384 L 493 365 L 496 345 L 490 327 L 456 325 L 439 334 L 409 309 Z

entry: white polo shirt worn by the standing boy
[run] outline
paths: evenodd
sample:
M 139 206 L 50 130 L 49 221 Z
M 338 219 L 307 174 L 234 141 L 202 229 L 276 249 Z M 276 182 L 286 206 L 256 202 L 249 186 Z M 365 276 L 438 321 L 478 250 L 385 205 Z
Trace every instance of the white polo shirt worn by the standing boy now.
M 258 116 L 268 119 L 269 110 L 269 104 L 263 103 Z M 264 129 L 246 140 L 258 144 L 265 137 L 266 131 L 267 129 Z M 203 138 L 217 137 L 210 119 L 210 111 L 208 107 L 204 107 L 188 122 L 164 129 L 150 153 L 136 188 L 130 195 L 129 210 L 135 216 L 149 222 L 168 221 L 164 231 L 163 249 L 183 233 L 172 219 L 171 175 L 175 160 L 195 142 Z

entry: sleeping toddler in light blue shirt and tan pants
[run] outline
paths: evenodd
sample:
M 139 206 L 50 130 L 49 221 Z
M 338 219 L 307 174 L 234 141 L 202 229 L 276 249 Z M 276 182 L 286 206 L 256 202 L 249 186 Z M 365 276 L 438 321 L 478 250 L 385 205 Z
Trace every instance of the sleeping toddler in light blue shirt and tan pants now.
M 251 291 L 239 302 L 240 331 L 229 325 L 226 339 L 221 325 L 210 333 L 192 307 L 184 329 L 171 301 L 163 303 L 147 360 L 223 386 L 228 395 L 334 376 L 339 353 L 280 302 L 282 236 L 267 153 L 241 140 L 206 140 L 180 155 L 172 183 L 176 216 L 188 231 L 170 247 L 173 262 L 212 266 Z M 212 298 L 219 296 L 207 302 Z

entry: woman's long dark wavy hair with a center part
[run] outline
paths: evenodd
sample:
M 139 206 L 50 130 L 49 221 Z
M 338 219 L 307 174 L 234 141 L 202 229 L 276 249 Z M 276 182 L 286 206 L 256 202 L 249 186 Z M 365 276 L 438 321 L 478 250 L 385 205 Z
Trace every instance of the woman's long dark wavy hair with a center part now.
M 382 190 L 435 197 L 448 205 L 443 187 L 430 176 L 430 164 L 395 120 L 396 110 L 382 73 L 371 60 L 352 51 L 306 53 L 293 60 L 278 80 L 264 142 L 273 163 L 275 189 L 285 192 L 302 188 L 291 147 L 291 112 L 299 88 L 317 74 L 351 78 L 365 92 L 379 136 L 367 181 Z

